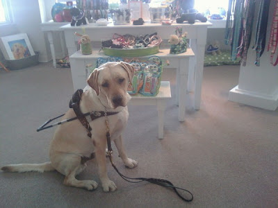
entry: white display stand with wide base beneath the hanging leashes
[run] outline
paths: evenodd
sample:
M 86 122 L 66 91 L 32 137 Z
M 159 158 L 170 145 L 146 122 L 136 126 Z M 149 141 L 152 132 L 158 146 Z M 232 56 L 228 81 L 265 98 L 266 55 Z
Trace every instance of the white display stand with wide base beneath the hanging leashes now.
M 256 67 L 254 64 L 256 51 L 250 47 L 246 67 L 240 67 L 238 85 L 230 90 L 229 101 L 275 110 L 278 107 L 278 66 L 270 64 L 270 52 L 266 51 L 272 12 L 268 18 L 267 42 L 265 52 L 261 56 L 261 65 Z

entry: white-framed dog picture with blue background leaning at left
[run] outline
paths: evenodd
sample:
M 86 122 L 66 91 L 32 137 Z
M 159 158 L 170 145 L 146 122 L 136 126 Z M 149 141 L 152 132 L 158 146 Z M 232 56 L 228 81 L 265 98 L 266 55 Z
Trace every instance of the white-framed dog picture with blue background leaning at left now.
M 26 33 L 0 37 L 0 49 L 6 60 L 17 60 L 35 55 Z

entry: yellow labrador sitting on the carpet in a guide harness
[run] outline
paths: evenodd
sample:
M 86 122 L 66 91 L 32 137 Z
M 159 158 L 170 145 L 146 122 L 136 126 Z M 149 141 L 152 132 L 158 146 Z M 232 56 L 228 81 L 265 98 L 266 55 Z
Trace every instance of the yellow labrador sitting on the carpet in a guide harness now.
M 125 62 L 108 62 L 93 71 L 81 96 L 81 112 L 104 111 L 118 112 L 108 116 L 111 141 L 115 142 L 124 165 L 134 168 L 138 165 L 133 159 L 126 156 L 122 144 L 122 132 L 126 126 L 129 112 L 127 103 L 130 100 L 127 87 L 133 77 L 134 68 Z M 63 119 L 76 116 L 74 110 L 66 112 Z M 76 175 L 84 170 L 88 159 L 95 155 L 99 167 L 99 179 L 104 191 L 117 189 L 113 181 L 109 180 L 106 171 L 106 118 L 100 117 L 89 121 L 92 127 L 92 138 L 81 122 L 77 119 L 59 125 L 51 141 L 50 161 L 43 164 L 15 164 L 3 166 L 2 171 L 58 171 L 65 175 L 64 184 L 71 187 L 80 187 L 88 190 L 96 189 L 97 182 L 93 180 L 76 180 Z

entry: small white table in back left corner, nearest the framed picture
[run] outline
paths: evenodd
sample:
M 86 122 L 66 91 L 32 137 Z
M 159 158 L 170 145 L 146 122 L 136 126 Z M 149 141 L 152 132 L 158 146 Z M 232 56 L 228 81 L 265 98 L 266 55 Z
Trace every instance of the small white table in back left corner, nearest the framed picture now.
M 59 32 L 60 35 L 60 45 L 62 48 L 63 57 L 65 57 L 65 44 L 64 44 L 64 34 L 61 26 L 69 24 L 68 22 L 54 22 L 53 20 L 44 22 L 40 25 L 40 28 L 43 32 L 47 33 L 47 38 L 50 44 L 50 51 L 53 60 L 53 66 L 56 68 L 56 53 L 54 47 L 53 33 L 55 31 Z

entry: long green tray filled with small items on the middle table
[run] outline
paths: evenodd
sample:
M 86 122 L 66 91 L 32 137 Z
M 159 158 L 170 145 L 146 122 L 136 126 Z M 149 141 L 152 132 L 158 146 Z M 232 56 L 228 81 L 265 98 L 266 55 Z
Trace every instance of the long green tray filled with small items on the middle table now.
M 147 49 L 112 49 L 102 47 L 105 55 L 117 57 L 140 57 L 145 55 L 154 55 L 159 52 L 159 46 L 154 46 Z

